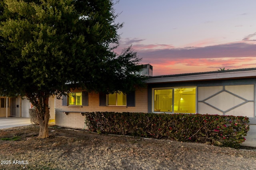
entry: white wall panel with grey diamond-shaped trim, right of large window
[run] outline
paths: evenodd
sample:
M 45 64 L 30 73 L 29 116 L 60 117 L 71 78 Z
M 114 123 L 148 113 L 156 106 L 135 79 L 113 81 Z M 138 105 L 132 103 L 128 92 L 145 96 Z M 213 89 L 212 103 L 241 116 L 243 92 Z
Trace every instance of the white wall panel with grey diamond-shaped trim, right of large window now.
M 198 87 L 198 113 L 255 117 L 254 84 Z

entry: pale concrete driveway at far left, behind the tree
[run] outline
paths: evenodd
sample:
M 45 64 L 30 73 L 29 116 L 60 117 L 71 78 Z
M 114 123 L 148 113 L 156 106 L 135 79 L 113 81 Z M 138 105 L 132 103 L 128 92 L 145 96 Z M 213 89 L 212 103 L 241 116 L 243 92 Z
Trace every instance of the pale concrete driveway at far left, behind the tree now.
M 31 125 L 30 117 L 0 117 L 0 129 Z

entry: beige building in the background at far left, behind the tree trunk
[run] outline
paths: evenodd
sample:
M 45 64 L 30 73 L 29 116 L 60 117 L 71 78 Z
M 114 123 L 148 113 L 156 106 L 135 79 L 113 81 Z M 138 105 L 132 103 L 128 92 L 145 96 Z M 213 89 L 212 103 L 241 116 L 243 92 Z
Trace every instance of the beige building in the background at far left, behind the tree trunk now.
M 49 98 L 50 120 L 55 119 L 55 98 Z M 30 117 L 29 109 L 33 106 L 26 97 L 0 96 L 0 117 Z

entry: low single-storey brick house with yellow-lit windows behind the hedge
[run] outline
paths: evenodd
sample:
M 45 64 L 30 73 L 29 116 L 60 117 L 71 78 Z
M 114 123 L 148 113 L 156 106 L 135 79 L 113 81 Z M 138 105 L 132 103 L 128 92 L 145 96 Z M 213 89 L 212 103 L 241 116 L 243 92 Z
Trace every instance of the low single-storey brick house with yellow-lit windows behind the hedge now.
M 200 113 L 246 116 L 247 146 L 256 147 L 256 68 L 150 76 L 130 94 L 82 90 L 56 100 L 56 125 L 84 128 L 84 112 Z

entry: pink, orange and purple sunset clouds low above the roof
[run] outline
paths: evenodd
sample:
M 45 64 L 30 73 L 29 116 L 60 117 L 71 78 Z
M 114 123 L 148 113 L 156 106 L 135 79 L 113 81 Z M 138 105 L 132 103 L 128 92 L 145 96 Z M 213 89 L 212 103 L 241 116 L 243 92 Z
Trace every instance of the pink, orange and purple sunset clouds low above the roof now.
M 143 39 L 125 39 L 119 50 L 136 42 L 132 49 L 142 58 L 143 64 L 153 66 L 153 75 L 182 74 L 191 72 L 256 67 L 256 43 L 250 40 L 256 33 L 247 35 L 242 41 L 205 47 L 175 48 L 168 44 L 142 44 Z M 208 40 L 205 44 L 207 44 Z M 199 43 L 204 45 L 204 43 Z M 130 45 L 130 44 L 129 44 Z M 197 43 L 198 45 L 198 43 Z

